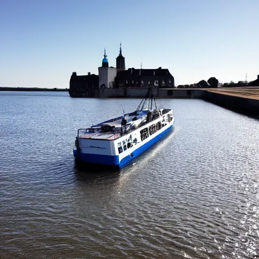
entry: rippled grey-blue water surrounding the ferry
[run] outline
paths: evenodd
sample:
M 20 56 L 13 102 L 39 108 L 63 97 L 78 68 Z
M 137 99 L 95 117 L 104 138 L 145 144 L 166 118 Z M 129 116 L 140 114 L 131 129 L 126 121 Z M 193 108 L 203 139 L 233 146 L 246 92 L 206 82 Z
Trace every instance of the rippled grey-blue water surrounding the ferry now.
M 75 167 L 77 128 L 139 102 L 0 92 L 1 258 L 257 258 L 258 120 L 157 100 L 167 138 L 119 171 Z

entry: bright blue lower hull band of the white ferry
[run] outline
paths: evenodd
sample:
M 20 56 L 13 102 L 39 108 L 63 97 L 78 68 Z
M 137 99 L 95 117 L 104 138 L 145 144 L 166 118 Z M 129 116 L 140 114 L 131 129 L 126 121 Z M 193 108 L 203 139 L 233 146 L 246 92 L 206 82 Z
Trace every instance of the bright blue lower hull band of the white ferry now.
M 165 137 L 170 130 L 172 129 L 174 125 L 171 125 L 168 127 L 164 132 L 156 136 L 155 138 L 151 139 L 149 142 L 144 144 L 143 146 L 140 146 L 138 149 L 134 150 L 131 155 L 128 155 L 124 157 L 119 162 L 119 156 L 109 156 L 109 155 L 96 155 L 96 154 L 83 154 L 78 153 L 77 150 L 73 150 L 74 157 L 77 161 L 85 162 L 85 163 L 95 163 L 95 164 L 101 164 L 101 165 L 110 165 L 110 166 L 117 166 L 119 168 L 127 165 L 128 163 L 131 163 L 133 159 L 141 155 L 143 152 L 145 152 L 148 148 L 150 148 L 153 144 L 155 144 L 157 141 Z

